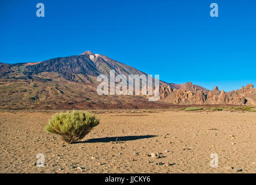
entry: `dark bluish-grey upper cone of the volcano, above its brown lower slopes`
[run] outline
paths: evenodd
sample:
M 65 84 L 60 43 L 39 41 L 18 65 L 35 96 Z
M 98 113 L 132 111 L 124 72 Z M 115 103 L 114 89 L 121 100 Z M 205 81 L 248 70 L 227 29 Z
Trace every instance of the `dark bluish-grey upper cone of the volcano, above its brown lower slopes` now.
M 59 57 L 40 62 L 39 64 L 26 66 L 24 75 L 38 75 L 42 72 L 56 72 L 61 77 L 72 82 L 96 83 L 96 77 L 114 70 L 116 75 L 144 74 L 129 65 L 122 64 L 100 54 L 93 54 L 90 51 L 79 56 Z

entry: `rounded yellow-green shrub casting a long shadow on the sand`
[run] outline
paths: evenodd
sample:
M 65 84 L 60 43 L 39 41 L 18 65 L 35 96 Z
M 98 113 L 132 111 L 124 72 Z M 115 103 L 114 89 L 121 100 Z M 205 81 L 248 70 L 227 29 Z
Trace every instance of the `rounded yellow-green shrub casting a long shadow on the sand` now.
M 61 135 L 68 143 L 83 139 L 100 120 L 90 112 L 73 110 L 72 112 L 57 113 L 46 125 L 47 132 Z

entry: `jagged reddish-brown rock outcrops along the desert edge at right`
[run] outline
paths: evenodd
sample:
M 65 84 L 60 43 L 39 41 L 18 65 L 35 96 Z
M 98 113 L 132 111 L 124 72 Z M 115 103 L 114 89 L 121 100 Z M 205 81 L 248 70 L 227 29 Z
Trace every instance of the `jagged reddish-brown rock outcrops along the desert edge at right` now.
M 160 99 L 180 105 L 256 105 L 256 89 L 253 84 L 248 84 L 237 91 L 224 92 L 215 86 L 213 90 L 207 92 L 191 82 L 186 83 L 185 88 L 174 90 L 163 84 L 160 87 Z

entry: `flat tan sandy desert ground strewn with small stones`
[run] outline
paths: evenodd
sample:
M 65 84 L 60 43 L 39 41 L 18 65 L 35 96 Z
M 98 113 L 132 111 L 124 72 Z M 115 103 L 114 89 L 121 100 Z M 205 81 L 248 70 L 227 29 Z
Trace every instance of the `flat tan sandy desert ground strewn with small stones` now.
M 255 112 L 98 112 L 100 125 L 71 145 L 45 131 L 53 114 L 0 113 L 1 173 L 256 173 Z

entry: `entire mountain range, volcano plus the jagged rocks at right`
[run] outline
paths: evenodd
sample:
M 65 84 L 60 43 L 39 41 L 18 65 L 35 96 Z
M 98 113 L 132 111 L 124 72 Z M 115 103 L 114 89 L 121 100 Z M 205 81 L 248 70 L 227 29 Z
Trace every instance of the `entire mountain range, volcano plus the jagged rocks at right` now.
M 186 84 L 160 81 L 160 99 L 149 102 L 145 95 L 98 95 L 97 76 L 148 75 L 101 54 L 85 51 L 79 56 L 58 57 L 42 62 L 0 63 L 1 109 L 96 109 L 166 108 L 192 104 L 256 104 L 252 84 L 224 92 Z

